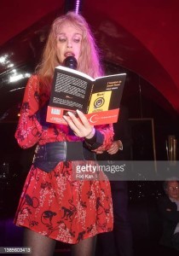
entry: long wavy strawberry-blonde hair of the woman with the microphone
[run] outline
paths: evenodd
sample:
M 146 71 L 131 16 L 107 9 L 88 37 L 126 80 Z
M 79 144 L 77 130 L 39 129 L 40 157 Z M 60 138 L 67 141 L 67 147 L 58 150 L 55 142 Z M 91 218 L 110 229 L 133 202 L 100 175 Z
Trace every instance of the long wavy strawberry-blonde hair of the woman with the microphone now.
M 72 26 L 83 31 L 81 51 L 78 58 L 78 71 L 86 73 L 93 78 L 101 76 L 103 70 L 101 68 L 99 49 L 95 44 L 95 38 L 92 35 L 90 26 L 82 15 L 77 15 L 71 11 L 55 19 L 49 31 L 49 37 L 43 49 L 42 61 L 36 68 L 36 72 L 40 75 L 44 84 L 53 79 L 55 67 L 62 65 L 56 55 L 56 38 L 57 32 L 61 32 L 61 26 L 64 23 L 71 23 Z

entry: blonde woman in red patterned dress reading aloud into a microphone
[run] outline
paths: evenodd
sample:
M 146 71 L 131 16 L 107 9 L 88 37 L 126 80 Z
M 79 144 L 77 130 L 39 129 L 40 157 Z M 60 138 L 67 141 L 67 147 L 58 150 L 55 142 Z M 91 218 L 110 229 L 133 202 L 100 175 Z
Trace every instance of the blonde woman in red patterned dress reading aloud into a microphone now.
M 25 245 L 32 247 L 32 255 L 38 256 L 53 255 L 55 241 L 72 244 L 73 255 L 91 256 L 95 235 L 113 229 L 108 181 L 72 179 L 72 168 L 74 170 L 81 160 L 95 160 L 97 148 L 107 150 L 110 147 L 113 125 L 94 128 L 80 111 L 77 111 L 80 121 L 68 113 L 64 117 L 67 125 L 45 122 L 55 67 L 63 65 L 68 56 L 77 59 L 79 71 L 94 78 L 102 74 L 90 28 L 81 15 L 73 12 L 57 18 L 51 27 L 37 73 L 26 85 L 15 133 L 21 148 L 38 144 L 14 220 L 15 224 L 26 228 Z M 63 155 L 66 154 L 65 142 L 70 148 L 73 142 L 83 145 L 87 157 L 81 156 L 75 161 L 78 152 L 74 148 L 74 160 L 68 160 L 68 155 L 65 161 L 54 159 L 54 155 L 59 155 L 59 147 Z M 44 155 L 50 150 L 52 162 L 47 162 Z

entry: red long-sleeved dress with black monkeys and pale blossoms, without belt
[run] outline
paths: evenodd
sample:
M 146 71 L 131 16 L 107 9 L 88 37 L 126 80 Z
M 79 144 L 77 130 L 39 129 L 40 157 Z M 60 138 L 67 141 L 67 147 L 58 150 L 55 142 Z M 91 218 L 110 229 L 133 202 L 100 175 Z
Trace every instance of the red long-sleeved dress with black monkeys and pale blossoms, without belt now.
M 40 125 L 36 113 L 48 96 L 34 75 L 26 84 L 15 137 L 21 148 L 50 142 L 78 141 L 67 125 Z M 104 136 L 101 149 L 113 140 L 113 125 L 96 127 Z M 113 230 L 110 184 L 103 180 L 73 180 L 71 161 L 59 162 L 51 172 L 31 167 L 20 196 L 14 223 L 67 243 Z

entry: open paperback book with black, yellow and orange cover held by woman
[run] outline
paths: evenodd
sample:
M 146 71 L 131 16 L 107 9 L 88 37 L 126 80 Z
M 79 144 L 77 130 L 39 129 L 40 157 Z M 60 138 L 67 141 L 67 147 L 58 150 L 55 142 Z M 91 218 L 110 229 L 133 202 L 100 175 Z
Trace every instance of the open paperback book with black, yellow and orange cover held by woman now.
M 66 124 L 67 111 L 82 111 L 91 125 L 115 123 L 126 73 L 92 79 L 85 73 L 58 66 L 52 84 L 47 122 Z

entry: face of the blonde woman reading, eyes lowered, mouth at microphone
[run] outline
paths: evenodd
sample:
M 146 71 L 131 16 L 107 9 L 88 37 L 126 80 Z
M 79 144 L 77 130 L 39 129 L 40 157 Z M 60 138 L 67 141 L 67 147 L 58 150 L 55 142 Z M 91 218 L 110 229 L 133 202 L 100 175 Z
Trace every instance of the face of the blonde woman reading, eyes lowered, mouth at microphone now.
M 57 31 L 57 57 L 61 64 L 70 55 L 78 61 L 82 35 L 82 30 L 72 26 L 71 23 L 63 24 L 59 32 Z

